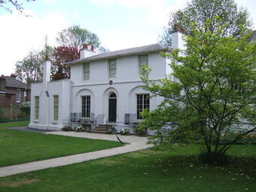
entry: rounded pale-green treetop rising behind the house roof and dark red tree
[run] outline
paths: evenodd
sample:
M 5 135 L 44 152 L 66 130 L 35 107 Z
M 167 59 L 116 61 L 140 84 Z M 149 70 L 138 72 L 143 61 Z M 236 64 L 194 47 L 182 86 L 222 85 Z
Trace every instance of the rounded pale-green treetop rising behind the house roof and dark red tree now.
M 62 47 L 76 47 L 80 50 L 83 44 L 86 43 L 101 53 L 108 51 L 100 45 L 99 37 L 95 33 L 88 29 L 82 29 L 80 26 L 70 26 L 68 29 L 63 29 L 62 32 L 59 32 L 56 41 Z

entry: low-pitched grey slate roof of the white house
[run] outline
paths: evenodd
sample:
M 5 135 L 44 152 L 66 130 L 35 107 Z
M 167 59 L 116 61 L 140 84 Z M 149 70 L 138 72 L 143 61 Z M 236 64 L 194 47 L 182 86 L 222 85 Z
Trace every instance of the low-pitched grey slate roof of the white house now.
M 171 48 L 163 44 L 149 44 L 142 47 L 133 47 L 133 48 L 124 49 L 124 50 L 114 50 L 107 53 L 99 53 L 94 56 L 86 57 L 84 59 L 78 59 L 72 62 L 67 62 L 66 64 L 76 64 L 81 62 L 111 59 L 111 58 L 116 58 L 120 56 L 130 56 L 130 55 L 153 53 L 153 52 L 166 51 L 166 50 L 171 50 Z

